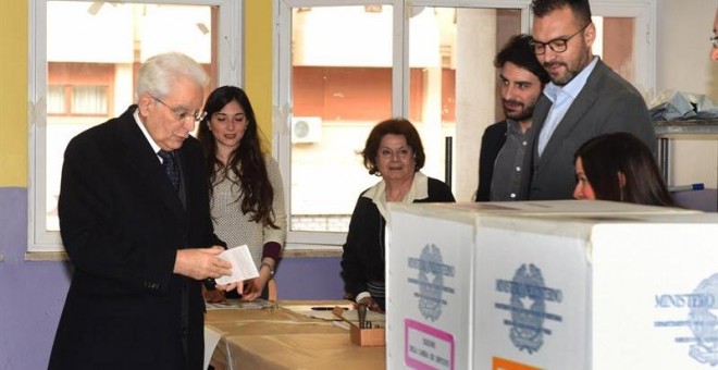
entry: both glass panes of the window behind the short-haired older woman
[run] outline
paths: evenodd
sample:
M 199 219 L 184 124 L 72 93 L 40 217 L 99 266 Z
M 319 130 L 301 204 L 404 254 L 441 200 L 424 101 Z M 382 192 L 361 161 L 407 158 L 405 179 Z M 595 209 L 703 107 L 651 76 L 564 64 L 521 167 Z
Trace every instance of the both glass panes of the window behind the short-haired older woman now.
M 426 151 L 422 171 L 453 182 L 456 194 L 447 146 L 458 147 L 457 124 L 475 133 L 478 121 L 495 119 L 500 101 L 493 55 L 520 32 L 521 11 L 414 7 L 408 26 L 408 81 L 394 82 L 393 69 L 401 64 L 393 59 L 393 7 L 293 9 L 292 231 L 347 231 L 357 197 L 380 181 L 359 153 L 371 127 L 397 111 L 401 102 L 392 100 L 393 89 L 403 84 L 409 102 L 403 115 L 414 123 Z M 457 96 L 466 99 L 463 110 Z M 465 192 L 469 198 L 479 151 L 475 143 L 466 149 L 475 149 L 463 157 L 474 171 L 458 176 L 473 183 Z

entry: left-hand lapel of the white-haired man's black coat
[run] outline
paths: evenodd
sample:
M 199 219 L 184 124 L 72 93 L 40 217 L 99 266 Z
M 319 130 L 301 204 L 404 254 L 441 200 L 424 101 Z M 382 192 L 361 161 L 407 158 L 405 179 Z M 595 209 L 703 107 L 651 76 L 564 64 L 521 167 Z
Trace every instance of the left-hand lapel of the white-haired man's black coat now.
M 133 113 L 136 106 L 132 106 L 119 120 L 119 139 L 123 143 L 123 158 L 129 168 L 135 170 L 138 181 L 147 184 L 147 192 L 153 192 L 170 211 L 177 217 L 177 221 L 185 224 L 186 212 L 177 192 L 174 189 L 166 174 L 162 170 L 157 155 L 147 143 L 145 135 L 137 127 Z

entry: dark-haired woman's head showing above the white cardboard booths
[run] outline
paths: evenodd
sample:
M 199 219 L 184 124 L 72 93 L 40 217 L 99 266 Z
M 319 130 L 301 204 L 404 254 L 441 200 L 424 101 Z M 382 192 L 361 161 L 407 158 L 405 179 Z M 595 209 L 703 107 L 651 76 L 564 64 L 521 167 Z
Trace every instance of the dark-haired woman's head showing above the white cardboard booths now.
M 575 199 L 676 207 L 648 147 L 629 133 L 584 143 L 574 156 Z

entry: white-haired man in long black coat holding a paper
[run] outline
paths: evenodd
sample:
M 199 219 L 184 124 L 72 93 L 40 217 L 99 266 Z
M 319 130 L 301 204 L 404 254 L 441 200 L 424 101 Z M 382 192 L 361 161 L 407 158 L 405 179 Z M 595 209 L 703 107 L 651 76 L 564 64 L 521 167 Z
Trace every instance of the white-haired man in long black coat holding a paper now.
M 189 136 L 207 81 L 187 55 L 150 58 L 137 103 L 67 145 L 58 207 L 74 269 L 49 369 L 202 368 L 201 283 L 232 273 Z

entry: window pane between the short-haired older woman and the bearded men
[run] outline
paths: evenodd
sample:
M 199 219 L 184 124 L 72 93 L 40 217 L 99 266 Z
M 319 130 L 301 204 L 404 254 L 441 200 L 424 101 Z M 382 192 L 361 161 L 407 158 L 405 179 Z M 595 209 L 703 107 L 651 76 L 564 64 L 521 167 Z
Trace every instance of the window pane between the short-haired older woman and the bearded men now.
M 478 178 L 476 138 L 504 115 L 494 57 L 521 33 L 521 10 L 412 9 L 409 116 L 424 144 L 423 171 L 450 184 L 458 200 L 470 200 Z

